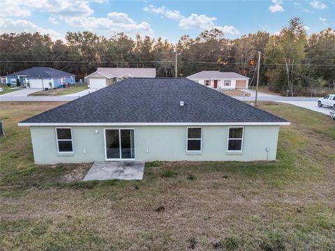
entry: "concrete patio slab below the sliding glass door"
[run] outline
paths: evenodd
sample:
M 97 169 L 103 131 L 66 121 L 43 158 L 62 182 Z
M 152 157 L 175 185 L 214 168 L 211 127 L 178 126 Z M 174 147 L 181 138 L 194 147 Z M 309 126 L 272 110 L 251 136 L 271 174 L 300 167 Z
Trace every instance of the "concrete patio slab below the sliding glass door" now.
M 142 180 L 144 162 L 94 162 L 84 181 L 105 181 L 110 179 Z

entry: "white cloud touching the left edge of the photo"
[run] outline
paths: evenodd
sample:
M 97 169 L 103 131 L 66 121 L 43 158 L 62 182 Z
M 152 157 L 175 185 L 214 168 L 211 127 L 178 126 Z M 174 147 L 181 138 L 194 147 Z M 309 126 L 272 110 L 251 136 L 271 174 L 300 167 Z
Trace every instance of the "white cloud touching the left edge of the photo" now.
M 49 34 L 53 39 L 64 39 L 64 36 L 52 29 L 44 29 L 37 26 L 29 20 L 13 20 L 11 18 L 4 18 L 0 20 L 0 30 L 2 33 L 35 33 Z

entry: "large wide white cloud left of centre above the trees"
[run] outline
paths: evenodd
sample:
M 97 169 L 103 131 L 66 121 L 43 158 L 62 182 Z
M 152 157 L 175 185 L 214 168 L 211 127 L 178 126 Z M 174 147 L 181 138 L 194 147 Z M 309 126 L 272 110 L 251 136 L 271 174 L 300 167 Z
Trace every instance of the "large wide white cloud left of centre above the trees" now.
M 108 13 L 107 17 L 62 17 L 66 24 L 89 31 L 124 32 L 128 35 L 153 33 L 147 22 L 137 23 L 126 13 Z

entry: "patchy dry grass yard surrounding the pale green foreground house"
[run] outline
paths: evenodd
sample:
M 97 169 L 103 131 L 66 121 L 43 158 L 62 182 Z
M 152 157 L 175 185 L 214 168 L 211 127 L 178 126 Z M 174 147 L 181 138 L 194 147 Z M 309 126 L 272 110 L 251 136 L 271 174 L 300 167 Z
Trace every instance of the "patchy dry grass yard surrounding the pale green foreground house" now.
M 334 250 L 335 123 L 291 105 L 276 162 L 151 162 L 143 181 L 34 165 L 17 121 L 59 105 L 2 102 L 3 250 Z M 191 177 L 191 178 L 190 178 Z

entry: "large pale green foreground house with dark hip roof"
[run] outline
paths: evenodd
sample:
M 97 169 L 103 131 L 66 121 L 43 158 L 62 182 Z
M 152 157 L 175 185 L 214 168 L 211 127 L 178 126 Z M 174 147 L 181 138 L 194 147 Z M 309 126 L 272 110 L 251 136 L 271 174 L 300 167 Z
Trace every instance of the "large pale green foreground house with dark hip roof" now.
M 276 160 L 290 122 L 185 78 L 129 78 L 19 123 L 36 164 Z

